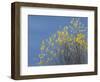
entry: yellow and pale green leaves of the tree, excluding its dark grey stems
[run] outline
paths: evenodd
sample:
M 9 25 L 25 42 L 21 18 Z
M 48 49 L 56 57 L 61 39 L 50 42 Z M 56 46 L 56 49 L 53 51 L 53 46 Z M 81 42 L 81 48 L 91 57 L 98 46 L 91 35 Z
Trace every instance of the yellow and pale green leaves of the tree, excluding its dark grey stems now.
M 79 19 L 73 18 L 70 25 L 64 26 L 55 33 L 50 33 L 50 36 L 46 40 L 42 40 L 40 45 L 41 53 L 38 55 L 40 58 L 38 64 L 54 64 L 56 62 L 53 61 L 54 58 L 59 58 L 60 55 L 72 58 L 72 53 L 77 52 L 77 49 L 80 50 L 80 52 L 81 50 L 84 51 L 84 49 L 87 50 L 87 37 L 85 36 L 86 34 L 83 34 L 80 30 L 80 27 L 81 23 L 79 23 Z M 85 30 L 85 28 L 83 29 Z M 78 31 L 81 33 L 78 33 Z M 77 52 L 77 54 L 80 53 Z

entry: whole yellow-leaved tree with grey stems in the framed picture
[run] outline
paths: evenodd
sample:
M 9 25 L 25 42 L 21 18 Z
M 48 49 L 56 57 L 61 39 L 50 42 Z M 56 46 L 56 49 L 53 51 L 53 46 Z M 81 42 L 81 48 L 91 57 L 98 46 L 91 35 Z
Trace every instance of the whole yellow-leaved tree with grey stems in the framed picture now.
M 87 27 L 79 18 L 41 41 L 38 65 L 68 65 L 87 63 Z

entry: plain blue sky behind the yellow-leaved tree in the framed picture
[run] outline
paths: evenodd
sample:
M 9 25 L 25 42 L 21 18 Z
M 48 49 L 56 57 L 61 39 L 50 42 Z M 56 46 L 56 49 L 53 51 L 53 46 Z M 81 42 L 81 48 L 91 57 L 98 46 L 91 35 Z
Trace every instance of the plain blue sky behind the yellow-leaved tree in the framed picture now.
M 68 25 L 73 17 L 65 16 L 28 16 L 28 66 L 34 66 L 39 61 L 40 42 L 55 33 L 59 27 Z M 87 27 L 87 17 L 79 17 Z

